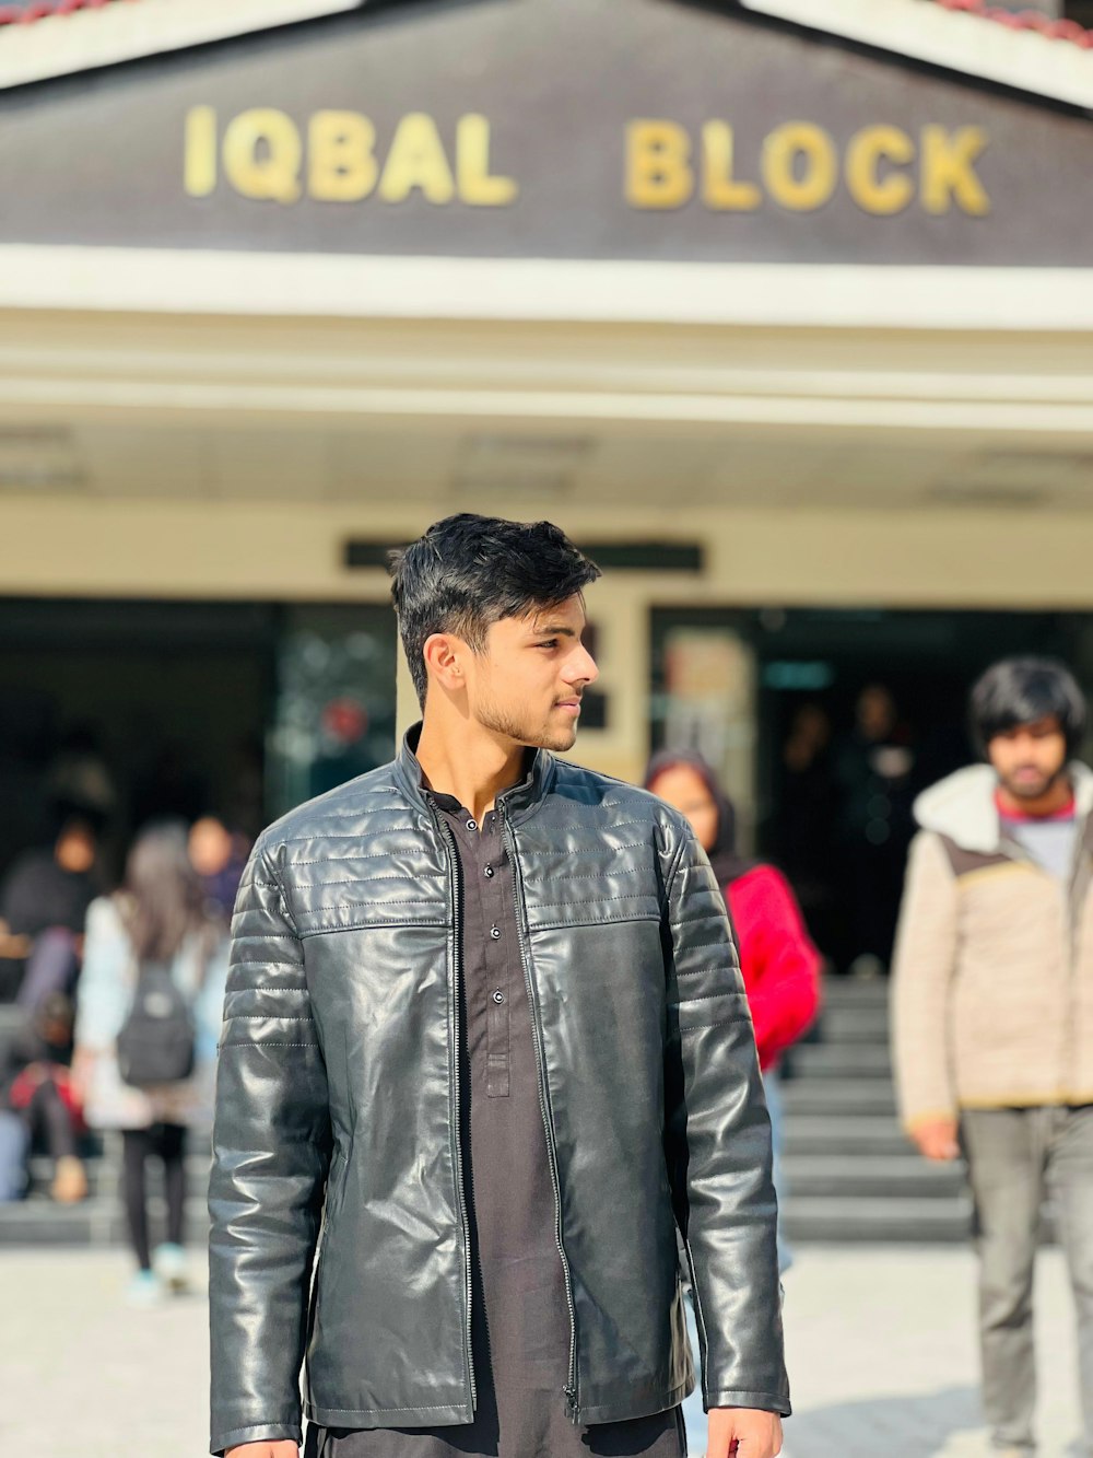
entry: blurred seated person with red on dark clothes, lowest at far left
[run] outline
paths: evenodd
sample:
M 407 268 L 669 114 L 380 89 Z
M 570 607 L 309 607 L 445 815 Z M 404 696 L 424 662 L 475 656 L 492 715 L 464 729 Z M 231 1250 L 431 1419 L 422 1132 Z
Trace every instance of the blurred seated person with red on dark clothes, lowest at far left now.
M 70 1077 L 73 1005 L 50 993 L 7 1047 L 0 1067 L 0 1200 L 17 1200 L 26 1187 L 26 1156 L 45 1149 L 54 1175 L 50 1194 L 73 1204 L 87 1194 L 79 1156 L 80 1101 Z

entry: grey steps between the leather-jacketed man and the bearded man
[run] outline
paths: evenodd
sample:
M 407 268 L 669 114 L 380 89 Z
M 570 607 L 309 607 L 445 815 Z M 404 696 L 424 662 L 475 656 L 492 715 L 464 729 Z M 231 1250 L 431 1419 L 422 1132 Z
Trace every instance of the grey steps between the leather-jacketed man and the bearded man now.
M 818 1041 L 783 1082 L 791 1242 L 966 1241 L 962 1169 L 927 1163 L 896 1120 L 888 981 L 829 978 Z

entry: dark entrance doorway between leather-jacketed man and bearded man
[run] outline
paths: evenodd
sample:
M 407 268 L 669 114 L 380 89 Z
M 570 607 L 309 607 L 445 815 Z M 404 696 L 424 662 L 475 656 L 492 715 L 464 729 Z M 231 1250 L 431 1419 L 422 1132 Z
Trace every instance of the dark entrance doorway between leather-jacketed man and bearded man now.
M 743 850 L 787 872 L 831 965 L 882 972 L 914 799 L 973 761 L 968 690 L 1013 653 L 1093 688 L 1093 615 L 657 609 L 651 746 L 702 748 Z

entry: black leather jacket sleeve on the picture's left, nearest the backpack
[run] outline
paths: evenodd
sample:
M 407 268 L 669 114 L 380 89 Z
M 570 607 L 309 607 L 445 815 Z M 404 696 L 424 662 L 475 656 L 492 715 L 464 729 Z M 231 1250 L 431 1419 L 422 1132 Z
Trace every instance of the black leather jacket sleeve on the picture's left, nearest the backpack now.
M 208 1191 L 211 1452 L 302 1441 L 300 1366 L 329 1165 L 326 1070 L 275 868 L 239 888 Z

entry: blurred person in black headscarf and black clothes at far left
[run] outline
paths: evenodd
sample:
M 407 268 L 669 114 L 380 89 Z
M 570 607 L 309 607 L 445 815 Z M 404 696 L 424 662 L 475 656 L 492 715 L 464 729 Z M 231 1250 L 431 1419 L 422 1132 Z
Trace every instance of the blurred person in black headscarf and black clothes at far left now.
M 71 991 L 95 873 L 101 821 L 60 806 L 52 846 L 22 854 L 0 886 L 0 1002 L 34 1009 L 50 991 Z

